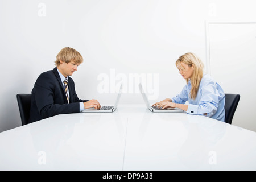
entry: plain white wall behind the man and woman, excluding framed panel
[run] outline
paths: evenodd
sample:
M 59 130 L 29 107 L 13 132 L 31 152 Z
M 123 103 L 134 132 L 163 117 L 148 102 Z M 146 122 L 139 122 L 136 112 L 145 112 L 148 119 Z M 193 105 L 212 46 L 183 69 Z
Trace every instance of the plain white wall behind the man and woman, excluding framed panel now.
M 72 76 L 80 98 L 112 103 L 121 79 L 127 93 L 120 104 L 143 104 L 129 79 L 138 73 L 151 81 L 147 91 L 154 102 L 185 85 L 175 68 L 180 55 L 195 52 L 206 63 L 205 20 L 253 21 L 254 7 L 254 0 L 1 0 L 0 131 L 21 125 L 16 94 L 30 93 L 63 47 L 84 57 Z M 98 88 L 102 76 L 109 77 L 105 93 Z

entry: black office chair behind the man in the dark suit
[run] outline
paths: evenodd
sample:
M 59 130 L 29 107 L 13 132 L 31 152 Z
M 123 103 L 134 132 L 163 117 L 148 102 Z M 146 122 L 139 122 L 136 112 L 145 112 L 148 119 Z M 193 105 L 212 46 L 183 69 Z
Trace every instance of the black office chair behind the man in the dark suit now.
M 27 125 L 30 117 L 31 94 L 17 94 L 17 101 L 22 125 Z

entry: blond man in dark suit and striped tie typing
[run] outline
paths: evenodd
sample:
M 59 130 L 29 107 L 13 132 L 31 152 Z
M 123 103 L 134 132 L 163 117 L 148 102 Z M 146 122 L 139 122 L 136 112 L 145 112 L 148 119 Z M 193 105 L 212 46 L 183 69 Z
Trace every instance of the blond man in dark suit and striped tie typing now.
M 79 113 L 94 107 L 100 109 L 97 100 L 80 100 L 75 91 L 71 75 L 83 62 L 79 52 L 65 47 L 56 56 L 56 67 L 42 73 L 32 89 L 30 120 L 28 123 L 57 114 Z

